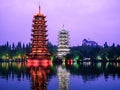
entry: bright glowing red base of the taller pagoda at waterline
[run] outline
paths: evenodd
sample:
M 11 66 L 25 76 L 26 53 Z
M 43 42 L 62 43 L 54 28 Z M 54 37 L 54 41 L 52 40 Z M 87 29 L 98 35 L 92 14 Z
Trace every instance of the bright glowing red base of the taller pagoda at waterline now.
M 28 67 L 38 67 L 38 66 L 42 66 L 42 67 L 50 67 L 52 66 L 52 60 L 50 59 L 28 59 L 27 60 L 27 65 Z

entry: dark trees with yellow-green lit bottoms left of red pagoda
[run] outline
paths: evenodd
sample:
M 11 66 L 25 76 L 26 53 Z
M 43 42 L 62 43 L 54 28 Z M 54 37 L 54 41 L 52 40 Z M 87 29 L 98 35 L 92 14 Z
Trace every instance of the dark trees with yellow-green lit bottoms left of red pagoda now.
M 16 60 L 24 59 L 30 52 L 30 44 L 21 44 L 18 42 L 17 45 L 14 43 L 12 46 L 7 42 L 5 45 L 0 46 L 0 59 L 3 60 Z

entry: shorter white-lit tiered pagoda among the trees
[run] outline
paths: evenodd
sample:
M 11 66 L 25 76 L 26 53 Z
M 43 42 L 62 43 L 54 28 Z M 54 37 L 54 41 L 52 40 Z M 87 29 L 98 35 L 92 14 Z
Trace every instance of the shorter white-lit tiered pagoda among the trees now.
M 64 28 L 58 34 L 58 53 L 57 57 L 62 58 L 70 52 L 69 49 L 69 32 Z

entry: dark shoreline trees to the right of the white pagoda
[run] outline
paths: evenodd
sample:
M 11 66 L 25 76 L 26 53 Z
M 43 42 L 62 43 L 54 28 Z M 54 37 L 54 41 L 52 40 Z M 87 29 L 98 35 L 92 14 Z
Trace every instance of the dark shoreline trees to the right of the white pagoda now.
M 120 45 L 113 43 L 111 46 L 105 42 L 104 46 L 82 45 L 73 46 L 71 52 L 66 58 L 74 58 L 75 60 L 92 59 L 92 60 L 120 60 Z

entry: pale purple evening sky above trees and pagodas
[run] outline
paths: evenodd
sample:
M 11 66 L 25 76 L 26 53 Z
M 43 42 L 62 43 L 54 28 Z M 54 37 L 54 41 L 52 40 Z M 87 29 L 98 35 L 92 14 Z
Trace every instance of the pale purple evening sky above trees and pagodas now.
M 120 0 L 0 0 L 0 44 L 30 42 L 32 16 L 39 2 L 53 44 L 63 24 L 72 46 L 81 45 L 84 38 L 100 45 L 120 44 Z

